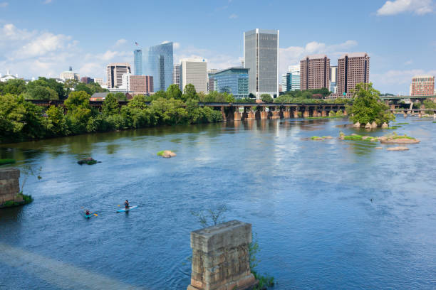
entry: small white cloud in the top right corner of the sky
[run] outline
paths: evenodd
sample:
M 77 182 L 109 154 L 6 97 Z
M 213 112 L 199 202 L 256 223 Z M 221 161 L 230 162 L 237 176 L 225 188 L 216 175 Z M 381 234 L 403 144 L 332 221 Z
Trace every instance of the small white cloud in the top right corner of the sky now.
M 395 0 L 386 3 L 377 11 L 378 16 L 389 16 L 412 12 L 417 15 L 427 14 L 433 11 L 432 0 Z

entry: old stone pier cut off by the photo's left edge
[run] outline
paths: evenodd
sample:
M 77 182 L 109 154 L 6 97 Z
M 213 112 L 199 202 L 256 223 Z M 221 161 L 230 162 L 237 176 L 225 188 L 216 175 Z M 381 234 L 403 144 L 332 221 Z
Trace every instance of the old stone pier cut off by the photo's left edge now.
M 20 192 L 20 171 L 16 168 L 0 169 L 0 205 L 6 201 L 23 201 Z

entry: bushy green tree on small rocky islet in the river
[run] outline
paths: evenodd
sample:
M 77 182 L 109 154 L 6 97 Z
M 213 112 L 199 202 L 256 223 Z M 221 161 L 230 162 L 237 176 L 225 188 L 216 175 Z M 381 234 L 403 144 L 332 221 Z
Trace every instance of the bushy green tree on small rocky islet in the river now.
M 353 90 L 354 102 L 349 112 L 352 114 L 351 121 L 367 124 L 375 122 L 380 126 L 395 119 L 389 112 L 389 107 L 380 102 L 380 92 L 373 88 L 373 84 L 360 83 Z

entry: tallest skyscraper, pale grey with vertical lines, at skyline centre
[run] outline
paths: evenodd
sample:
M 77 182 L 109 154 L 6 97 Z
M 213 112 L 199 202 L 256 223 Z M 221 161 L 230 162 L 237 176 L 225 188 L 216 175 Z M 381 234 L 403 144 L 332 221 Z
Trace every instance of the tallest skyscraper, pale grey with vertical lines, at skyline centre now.
M 244 68 L 249 68 L 249 92 L 279 96 L 279 31 L 256 28 L 244 32 Z

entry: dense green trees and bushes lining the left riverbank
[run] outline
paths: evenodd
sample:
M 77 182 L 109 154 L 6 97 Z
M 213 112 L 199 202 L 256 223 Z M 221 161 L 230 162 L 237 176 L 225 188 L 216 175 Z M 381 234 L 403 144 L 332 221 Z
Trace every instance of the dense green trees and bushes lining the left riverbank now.
M 42 107 L 27 102 L 23 94 L 8 93 L 0 95 L 0 141 L 24 141 L 159 125 L 221 122 L 221 112 L 199 107 L 198 102 L 212 100 L 212 97 L 214 100 L 230 100 L 233 96 L 217 92 L 211 94 L 197 94 L 192 85 L 187 85 L 184 92 L 177 85 L 170 85 L 167 92 L 159 92 L 150 97 L 135 96 L 123 107 L 120 107 L 114 94 L 108 94 L 99 112 L 90 106 L 90 95 L 87 92 L 74 91 L 65 100 L 65 108 L 51 106 L 43 112 Z M 149 101 L 151 104 L 146 104 Z

